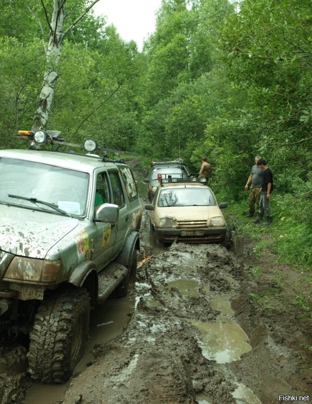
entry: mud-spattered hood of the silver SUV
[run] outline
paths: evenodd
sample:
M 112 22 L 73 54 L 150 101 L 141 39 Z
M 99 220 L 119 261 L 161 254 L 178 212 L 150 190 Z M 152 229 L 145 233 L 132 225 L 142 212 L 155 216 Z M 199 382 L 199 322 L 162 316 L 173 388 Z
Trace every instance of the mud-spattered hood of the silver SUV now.
M 0 249 L 18 256 L 43 259 L 48 250 L 78 223 L 75 218 L 1 206 Z

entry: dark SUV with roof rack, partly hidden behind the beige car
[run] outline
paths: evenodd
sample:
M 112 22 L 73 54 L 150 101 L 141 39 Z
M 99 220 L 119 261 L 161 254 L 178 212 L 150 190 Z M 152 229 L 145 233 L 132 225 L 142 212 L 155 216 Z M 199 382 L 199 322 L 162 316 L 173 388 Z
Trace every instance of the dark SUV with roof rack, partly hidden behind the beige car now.
M 189 171 L 182 159 L 163 159 L 159 161 L 152 161 L 150 163 L 148 177 L 144 178 L 144 182 L 147 183 L 148 200 L 152 200 L 162 178 L 167 179 L 188 177 Z

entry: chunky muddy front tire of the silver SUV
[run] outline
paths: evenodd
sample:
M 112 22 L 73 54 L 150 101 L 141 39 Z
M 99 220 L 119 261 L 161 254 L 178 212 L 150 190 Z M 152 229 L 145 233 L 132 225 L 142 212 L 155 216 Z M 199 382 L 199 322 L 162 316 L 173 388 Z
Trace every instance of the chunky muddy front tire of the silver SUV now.
M 64 383 L 82 358 L 88 337 L 90 298 L 64 289 L 42 301 L 29 335 L 29 373 L 42 383 Z

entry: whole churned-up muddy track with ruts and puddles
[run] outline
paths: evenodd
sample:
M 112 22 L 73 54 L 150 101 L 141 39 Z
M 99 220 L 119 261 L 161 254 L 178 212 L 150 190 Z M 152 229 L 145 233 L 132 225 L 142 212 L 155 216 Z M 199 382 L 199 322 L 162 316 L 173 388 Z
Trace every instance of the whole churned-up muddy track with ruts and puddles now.
M 123 298 L 129 310 L 118 335 L 91 340 L 90 361 L 50 400 L 50 386 L 30 400 L 26 349 L 3 340 L 0 403 L 273 404 L 281 394 L 311 402 L 310 319 L 285 300 L 289 291 L 270 309 L 250 298 L 274 286 L 275 258 L 255 279 L 246 242 L 230 251 L 162 248 L 150 242 L 148 222 L 144 213 L 136 286 Z M 291 286 L 292 268 L 279 268 Z

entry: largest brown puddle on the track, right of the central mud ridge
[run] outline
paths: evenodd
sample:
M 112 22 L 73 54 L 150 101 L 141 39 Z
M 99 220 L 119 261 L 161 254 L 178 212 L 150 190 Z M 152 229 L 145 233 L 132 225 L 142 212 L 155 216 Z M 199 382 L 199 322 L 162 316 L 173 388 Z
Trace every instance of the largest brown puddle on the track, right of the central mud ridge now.
M 246 342 L 247 335 L 231 318 L 219 317 L 216 323 L 201 323 L 191 320 L 191 324 L 201 333 L 199 345 L 202 355 L 217 363 L 238 361 L 251 346 Z

